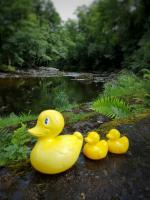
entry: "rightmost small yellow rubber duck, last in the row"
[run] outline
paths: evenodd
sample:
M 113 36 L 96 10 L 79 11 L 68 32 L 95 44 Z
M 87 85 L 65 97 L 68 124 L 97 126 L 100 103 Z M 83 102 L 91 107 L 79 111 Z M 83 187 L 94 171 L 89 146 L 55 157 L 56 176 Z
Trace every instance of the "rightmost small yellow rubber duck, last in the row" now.
M 120 138 L 120 132 L 117 129 L 111 129 L 106 137 L 109 139 L 108 150 L 111 153 L 123 154 L 128 151 L 129 140 L 126 136 Z

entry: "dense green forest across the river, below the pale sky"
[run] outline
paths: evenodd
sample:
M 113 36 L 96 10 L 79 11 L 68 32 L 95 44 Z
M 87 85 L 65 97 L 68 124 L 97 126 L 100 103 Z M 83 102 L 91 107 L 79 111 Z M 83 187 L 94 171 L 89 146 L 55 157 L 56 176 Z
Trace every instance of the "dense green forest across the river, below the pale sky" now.
M 0 68 L 150 69 L 149 11 L 149 0 L 95 0 L 62 22 L 51 0 L 1 0 Z

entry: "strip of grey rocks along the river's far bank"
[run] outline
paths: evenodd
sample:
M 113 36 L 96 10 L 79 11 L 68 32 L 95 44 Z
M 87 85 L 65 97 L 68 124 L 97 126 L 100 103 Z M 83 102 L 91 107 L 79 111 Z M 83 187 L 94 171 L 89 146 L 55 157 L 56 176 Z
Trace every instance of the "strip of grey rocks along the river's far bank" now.
M 16 70 L 14 73 L 0 72 L 0 79 L 4 78 L 46 78 L 46 77 L 71 77 L 76 81 L 106 82 L 116 76 L 118 72 L 63 72 L 54 67 L 39 67 L 37 69 Z

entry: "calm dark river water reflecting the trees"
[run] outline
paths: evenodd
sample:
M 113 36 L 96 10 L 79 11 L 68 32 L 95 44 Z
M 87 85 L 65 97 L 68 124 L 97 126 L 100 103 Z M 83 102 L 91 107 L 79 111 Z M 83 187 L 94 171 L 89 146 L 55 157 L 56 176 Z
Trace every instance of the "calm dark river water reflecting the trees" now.
M 89 102 L 96 98 L 103 83 L 77 81 L 71 77 L 0 79 L 0 115 L 39 113 L 66 98 L 70 103 Z M 56 102 L 55 102 L 56 101 Z

